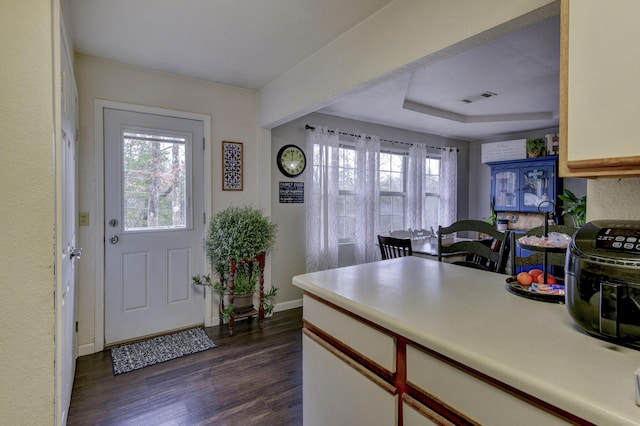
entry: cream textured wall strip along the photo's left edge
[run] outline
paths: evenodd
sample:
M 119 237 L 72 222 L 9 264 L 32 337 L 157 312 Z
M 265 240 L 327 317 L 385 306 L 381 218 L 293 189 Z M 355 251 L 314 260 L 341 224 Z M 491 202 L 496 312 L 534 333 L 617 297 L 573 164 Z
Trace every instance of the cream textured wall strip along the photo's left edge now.
M 0 3 L 0 413 L 4 424 L 53 424 L 55 417 L 52 35 L 58 31 L 53 16 L 57 11 L 57 3 L 50 0 Z

